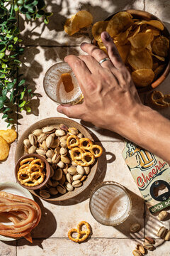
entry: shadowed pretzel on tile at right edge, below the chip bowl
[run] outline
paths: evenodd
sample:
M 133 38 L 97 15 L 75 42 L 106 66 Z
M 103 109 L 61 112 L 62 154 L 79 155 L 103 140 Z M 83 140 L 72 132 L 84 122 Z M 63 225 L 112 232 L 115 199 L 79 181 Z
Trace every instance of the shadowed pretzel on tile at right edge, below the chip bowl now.
M 157 107 L 169 107 L 170 102 L 166 102 L 166 99 L 170 100 L 170 95 L 163 95 L 163 93 L 159 91 L 152 92 L 151 101 Z

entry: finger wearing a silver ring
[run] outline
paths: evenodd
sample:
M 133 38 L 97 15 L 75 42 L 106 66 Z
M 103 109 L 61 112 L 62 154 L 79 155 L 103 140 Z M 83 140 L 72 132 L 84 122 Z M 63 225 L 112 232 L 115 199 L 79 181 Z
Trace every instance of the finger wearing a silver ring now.
M 82 43 L 81 49 L 84 50 L 84 52 L 88 53 L 92 57 L 94 57 L 97 62 L 103 60 L 104 58 L 108 58 L 108 55 L 103 52 L 103 50 L 99 49 L 97 46 L 92 45 L 91 43 Z M 113 68 L 113 64 L 111 63 L 111 60 L 106 60 L 103 63 L 101 63 L 101 66 L 103 68 Z

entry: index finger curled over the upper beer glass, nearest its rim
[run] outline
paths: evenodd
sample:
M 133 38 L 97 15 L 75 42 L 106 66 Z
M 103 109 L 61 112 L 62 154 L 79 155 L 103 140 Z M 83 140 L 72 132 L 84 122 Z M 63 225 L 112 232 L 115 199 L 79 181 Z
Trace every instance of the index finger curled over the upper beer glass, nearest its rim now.
M 89 68 L 87 68 L 86 64 L 83 60 L 79 59 L 77 56 L 68 55 L 64 58 L 64 61 L 69 64 L 72 68 L 74 75 L 76 75 L 77 81 L 79 82 L 79 86 L 81 88 L 81 92 L 86 94 L 86 80 L 91 76 L 91 72 Z

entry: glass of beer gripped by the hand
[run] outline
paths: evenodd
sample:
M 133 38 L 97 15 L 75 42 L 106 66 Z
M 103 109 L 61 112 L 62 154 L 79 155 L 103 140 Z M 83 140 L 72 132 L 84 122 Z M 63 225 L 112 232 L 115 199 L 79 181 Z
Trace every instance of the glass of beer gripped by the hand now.
M 44 90 L 51 100 L 62 105 L 75 105 L 83 95 L 72 68 L 67 63 L 56 63 L 45 73 Z

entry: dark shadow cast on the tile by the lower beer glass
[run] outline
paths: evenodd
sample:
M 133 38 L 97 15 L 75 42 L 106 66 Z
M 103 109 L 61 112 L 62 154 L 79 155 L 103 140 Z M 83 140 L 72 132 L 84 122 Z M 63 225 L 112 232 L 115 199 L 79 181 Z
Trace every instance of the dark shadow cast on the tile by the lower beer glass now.
M 145 202 L 143 198 L 137 196 L 137 194 L 133 193 L 128 188 L 126 189 L 132 200 L 132 210 L 130 211 L 130 215 L 127 220 L 114 228 L 126 235 L 127 238 L 134 238 L 135 240 L 142 239 L 145 235 Z M 135 223 L 139 223 L 141 225 L 140 231 L 138 233 L 131 233 L 130 226 Z

